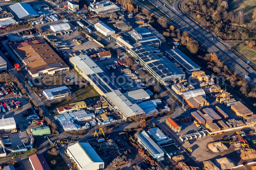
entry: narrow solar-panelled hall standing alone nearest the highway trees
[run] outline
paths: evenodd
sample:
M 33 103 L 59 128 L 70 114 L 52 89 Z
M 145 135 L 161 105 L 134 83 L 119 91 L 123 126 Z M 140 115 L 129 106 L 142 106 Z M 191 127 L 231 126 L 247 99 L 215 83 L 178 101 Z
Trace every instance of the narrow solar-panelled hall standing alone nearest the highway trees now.
M 166 51 L 166 53 L 170 57 L 170 59 L 174 60 L 176 63 L 182 66 L 187 73 L 199 71 L 201 68 L 177 48 L 168 50 Z

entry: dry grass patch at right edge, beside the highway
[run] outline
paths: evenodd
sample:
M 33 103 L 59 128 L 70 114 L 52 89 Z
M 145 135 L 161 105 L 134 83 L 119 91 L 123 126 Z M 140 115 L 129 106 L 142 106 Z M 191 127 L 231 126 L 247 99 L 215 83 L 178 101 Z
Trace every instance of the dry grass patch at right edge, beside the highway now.
M 233 48 L 235 48 L 240 54 L 242 54 L 244 57 L 246 57 L 250 62 L 256 65 L 256 52 L 250 50 L 250 48 L 247 47 L 245 44 L 235 44 L 232 45 Z

